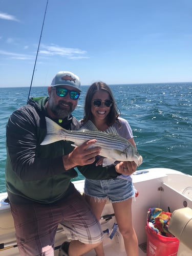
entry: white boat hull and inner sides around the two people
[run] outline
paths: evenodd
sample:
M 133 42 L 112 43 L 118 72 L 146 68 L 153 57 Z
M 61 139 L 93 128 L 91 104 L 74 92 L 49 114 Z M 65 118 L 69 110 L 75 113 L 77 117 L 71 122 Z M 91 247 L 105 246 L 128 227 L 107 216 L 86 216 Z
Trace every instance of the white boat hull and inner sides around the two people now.
M 137 171 L 133 175 L 135 188 L 138 190 L 139 196 L 132 203 L 133 225 L 138 237 L 139 256 L 146 255 L 146 240 L 145 232 L 147 211 L 151 207 L 158 207 L 171 212 L 176 209 L 189 207 L 192 209 L 192 176 L 185 175 L 177 170 L 167 168 L 153 168 Z M 74 182 L 76 188 L 83 192 L 84 181 Z M 5 204 L 3 199 L 7 197 L 6 193 L 0 194 L 0 237 L 2 247 L 0 249 L 1 256 L 19 255 L 15 241 L 14 223 L 10 212 L 9 204 Z M 102 215 L 113 214 L 113 207 L 110 203 L 105 205 Z M 192 217 L 191 217 L 192 218 Z M 112 229 L 115 222 L 115 217 L 109 221 L 101 222 L 102 229 Z M 61 226 L 58 227 L 56 234 L 55 246 L 67 240 L 65 232 Z M 117 229 L 113 239 L 108 238 L 105 234 L 104 239 L 105 256 L 126 255 L 121 234 Z M 13 247 L 15 246 L 15 247 Z M 184 251 L 185 250 L 185 251 Z M 183 256 L 191 256 L 192 249 L 183 246 Z M 55 250 L 55 255 L 58 255 L 58 249 Z M 94 251 L 86 254 L 87 256 L 95 255 Z

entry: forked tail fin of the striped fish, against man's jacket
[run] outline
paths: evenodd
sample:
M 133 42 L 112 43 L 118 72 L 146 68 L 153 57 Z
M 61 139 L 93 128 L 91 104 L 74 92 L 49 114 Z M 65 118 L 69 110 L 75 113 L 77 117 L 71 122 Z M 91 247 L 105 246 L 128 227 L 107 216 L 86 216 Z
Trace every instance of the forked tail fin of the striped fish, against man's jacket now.
M 40 145 L 47 145 L 59 140 L 63 140 L 63 138 L 61 138 L 58 135 L 58 132 L 60 130 L 65 131 L 65 129 L 63 129 L 60 125 L 58 125 L 56 122 L 54 122 L 48 117 L 46 117 L 46 126 L 47 126 L 47 134 L 46 134 L 46 137 L 44 138 L 44 141 L 42 141 Z

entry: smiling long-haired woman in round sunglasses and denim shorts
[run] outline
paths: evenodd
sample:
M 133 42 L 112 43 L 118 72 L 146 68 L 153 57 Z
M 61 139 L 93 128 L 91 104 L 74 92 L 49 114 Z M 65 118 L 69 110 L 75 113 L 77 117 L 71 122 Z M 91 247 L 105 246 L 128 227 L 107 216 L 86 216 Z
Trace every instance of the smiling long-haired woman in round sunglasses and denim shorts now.
M 83 129 L 90 129 L 91 123 L 91 126 L 95 126 L 95 129 L 99 131 L 110 133 L 116 130 L 121 137 L 126 138 L 136 147 L 131 127 L 125 119 L 119 117 L 112 91 L 104 82 L 95 82 L 88 89 L 84 105 L 84 117 L 81 122 Z M 96 166 L 101 167 L 102 163 L 103 158 L 100 157 Z M 130 175 L 137 168 L 135 162 L 121 162 L 120 164 L 123 164 L 124 168 L 128 168 Z M 99 180 L 98 177 L 93 177 L 93 173 L 96 172 L 92 172 L 91 165 L 86 170 L 87 173 L 84 172 L 83 175 L 89 177 L 87 174 L 91 172 L 92 178 L 86 178 L 84 195 L 92 211 L 99 220 L 106 200 L 109 199 L 112 202 L 115 218 L 123 236 L 126 254 L 138 256 L 138 241 L 132 225 L 131 206 L 135 189 L 131 176 L 119 175 L 117 178 Z M 104 191 L 103 186 L 105 186 Z M 102 244 L 96 247 L 95 251 L 97 256 L 103 256 Z

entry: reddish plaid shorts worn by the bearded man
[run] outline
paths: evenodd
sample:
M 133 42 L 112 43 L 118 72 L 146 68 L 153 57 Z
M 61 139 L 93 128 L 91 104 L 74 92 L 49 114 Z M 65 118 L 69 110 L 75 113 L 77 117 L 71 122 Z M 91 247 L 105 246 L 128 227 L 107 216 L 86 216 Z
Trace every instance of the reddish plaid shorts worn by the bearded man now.
M 11 203 L 20 255 L 54 255 L 54 238 L 59 223 L 68 238 L 94 244 L 103 240 L 99 222 L 89 205 L 71 185 L 69 196 L 53 204 Z

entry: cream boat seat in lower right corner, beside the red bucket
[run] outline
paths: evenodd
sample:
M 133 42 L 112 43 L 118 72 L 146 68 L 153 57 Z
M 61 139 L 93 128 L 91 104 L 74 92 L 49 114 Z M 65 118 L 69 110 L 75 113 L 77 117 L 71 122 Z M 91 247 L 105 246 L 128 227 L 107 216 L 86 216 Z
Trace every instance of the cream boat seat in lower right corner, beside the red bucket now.
M 179 239 L 179 247 L 186 246 L 192 252 L 192 209 L 189 207 L 177 209 L 173 212 L 168 225 L 168 231 Z M 179 249 L 178 249 L 179 251 Z M 179 254 L 178 254 L 179 255 Z M 187 254 L 188 255 L 188 254 Z M 192 255 L 192 254 L 190 254 Z

